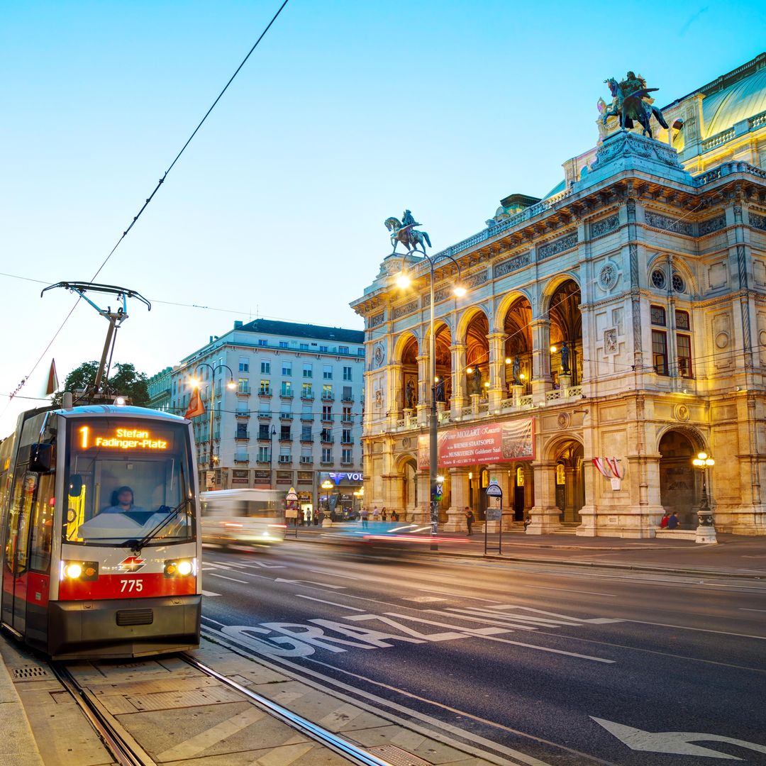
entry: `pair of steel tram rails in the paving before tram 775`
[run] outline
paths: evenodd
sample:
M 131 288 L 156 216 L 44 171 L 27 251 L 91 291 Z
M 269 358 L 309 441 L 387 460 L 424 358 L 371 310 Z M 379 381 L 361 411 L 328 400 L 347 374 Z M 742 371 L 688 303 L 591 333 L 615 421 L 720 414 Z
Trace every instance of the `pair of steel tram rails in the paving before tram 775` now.
M 218 683 L 238 692 L 251 705 L 290 726 L 294 731 L 341 755 L 349 763 L 358 764 L 358 766 L 391 766 L 388 761 L 366 751 L 364 748 L 360 748 L 351 741 L 342 738 L 334 732 L 330 732 L 326 728 L 322 728 L 322 726 L 309 721 L 309 719 L 303 718 L 303 716 L 283 707 L 283 705 L 279 705 L 277 702 L 273 702 L 267 699 L 267 697 L 247 689 L 246 686 L 237 683 L 233 679 L 228 678 L 228 676 L 218 673 L 218 671 L 199 662 L 190 654 L 176 653 L 171 656 L 182 660 L 199 673 L 203 673 L 205 676 L 215 679 Z M 77 680 L 67 667 L 67 663 L 51 661 L 49 666 L 54 676 L 61 683 L 61 686 L 69 692 L 87 721 L 93 727 L 93 730 L 120 766 L 157 766 L 152 756 L 127 732 L 126 728 L 119 723 L 116 717 L 106 710 L 104 705 L 97 699 L 97 696 L 87 686 L 83 686 Z

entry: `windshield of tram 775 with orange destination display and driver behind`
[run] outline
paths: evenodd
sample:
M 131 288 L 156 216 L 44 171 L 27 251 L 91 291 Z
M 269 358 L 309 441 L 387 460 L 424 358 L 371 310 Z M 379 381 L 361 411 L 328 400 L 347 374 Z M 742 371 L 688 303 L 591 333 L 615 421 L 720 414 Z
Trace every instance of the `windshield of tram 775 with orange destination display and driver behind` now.
M 194 534 L 194 479 L 183 424 L 126 417 L 68 423 L 64 541 L 182 542 Z

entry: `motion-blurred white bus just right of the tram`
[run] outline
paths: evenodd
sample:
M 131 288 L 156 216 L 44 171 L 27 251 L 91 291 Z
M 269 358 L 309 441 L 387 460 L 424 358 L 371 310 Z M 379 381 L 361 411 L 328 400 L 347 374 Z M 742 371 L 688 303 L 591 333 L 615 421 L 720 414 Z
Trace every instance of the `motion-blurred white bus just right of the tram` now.
M 273 545 L 284 539 L 284 493 L 279 489 L 219 489 L 200 494 L 202 542 Z

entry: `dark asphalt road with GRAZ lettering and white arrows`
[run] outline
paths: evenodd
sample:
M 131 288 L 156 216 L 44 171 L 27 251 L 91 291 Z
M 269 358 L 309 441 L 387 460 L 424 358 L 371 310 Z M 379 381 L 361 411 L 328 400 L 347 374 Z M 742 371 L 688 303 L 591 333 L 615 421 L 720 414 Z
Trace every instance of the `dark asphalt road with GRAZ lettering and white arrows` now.
M 208 633 L 511 762 L 766 764 L 766 581 L 310 542 L 203 572 Z

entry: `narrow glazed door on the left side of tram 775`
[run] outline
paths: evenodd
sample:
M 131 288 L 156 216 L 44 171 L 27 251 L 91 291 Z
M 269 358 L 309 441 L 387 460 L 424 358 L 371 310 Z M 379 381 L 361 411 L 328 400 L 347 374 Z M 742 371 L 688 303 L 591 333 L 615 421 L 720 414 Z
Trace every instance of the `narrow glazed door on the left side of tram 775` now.
M 37 494 L 37 473 L 17 473 L 8 509 L 2 570 L 2 620 L 26 633 L 29 587 L 29 519 Z

